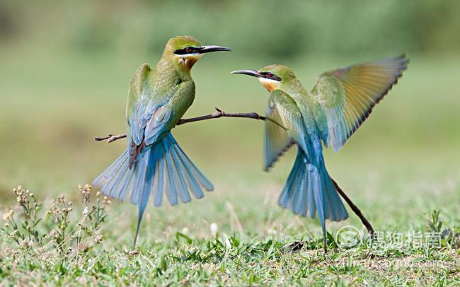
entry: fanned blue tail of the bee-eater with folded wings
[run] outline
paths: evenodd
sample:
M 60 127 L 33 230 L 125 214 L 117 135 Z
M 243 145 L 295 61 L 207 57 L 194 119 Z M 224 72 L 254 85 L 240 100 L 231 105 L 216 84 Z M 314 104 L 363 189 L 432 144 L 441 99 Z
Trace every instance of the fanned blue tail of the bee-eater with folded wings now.
M 103 194 L 120 200 L 130 195 L 131 203 L 137 204 L 139 208 L 136 239 L 146 204 L 152 193 L 154 205 L 161 206 L 165 193 L 169 204 L 175 205 L 178 204 L 179 198 L 183 203 L 189 202 L 192 199 L 190 192 L 200 199 L 204 196 L 202 189 L 214 189 L 211 182 L 178 146 L 171 133 L 163 136 L 156 144 L 146 146 L 131 168 L 128 152 L 122 153 L 96 177 L 93 186 L 101 187 L 100 191 Z

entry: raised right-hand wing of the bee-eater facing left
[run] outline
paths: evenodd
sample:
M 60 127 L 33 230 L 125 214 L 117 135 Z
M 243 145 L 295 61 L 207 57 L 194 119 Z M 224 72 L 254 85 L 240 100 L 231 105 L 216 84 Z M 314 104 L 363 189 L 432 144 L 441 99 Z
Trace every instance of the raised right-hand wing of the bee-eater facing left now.
M 324 145 L 332 144 L 338 151 L 398 81 L 407 64 L 408 59 L 401 55 L 321 74 L 310 93 Z

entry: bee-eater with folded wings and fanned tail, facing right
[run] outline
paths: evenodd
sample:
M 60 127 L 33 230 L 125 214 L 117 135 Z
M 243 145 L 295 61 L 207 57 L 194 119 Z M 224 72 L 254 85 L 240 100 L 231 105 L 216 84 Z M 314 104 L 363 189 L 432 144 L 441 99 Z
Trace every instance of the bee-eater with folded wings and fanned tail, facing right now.
M 203 46 L 190 36 L 168 40 L 156 66 L 142 64 L 132 76 L 126 106 L 127 151 L 100 174 L 93 185 L 103 194 L 137 204 L 137 234 L 142 215 L 153 193 L 161 206 L 163 194 L 169 204 L 187 203 L 191 192 L 197 199 L 212 183 L 196 168 L 171 135 L 171 129 L 195 98 L 192 66 L 209 52 L 230 51 L 221 46 Z

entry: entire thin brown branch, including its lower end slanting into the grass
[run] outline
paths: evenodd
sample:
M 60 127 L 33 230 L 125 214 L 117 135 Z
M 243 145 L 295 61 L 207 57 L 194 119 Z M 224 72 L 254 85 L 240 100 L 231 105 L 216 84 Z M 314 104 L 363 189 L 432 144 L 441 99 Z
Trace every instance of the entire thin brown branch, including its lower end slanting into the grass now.
M 270 120 L 270 121 L 274 122 L 275 124 L 278 124 L 280 127 L 282 127 L 282 125 L 280 125 L 279 123 L 273 121 L 270 118 L 258 115 L 258 113 L 256 113 L 256 112 L 242 112 L 242 113 L 223 112 L 222 110 L 219 110 L 217 107 L 216 107 L 216 112 L 214 112 L 214 113 L 212 113 L 210 115 L 204 115 L 204 116 L 201 116 L 201 117 L 192 117 L 190 119 L 180 119 L 179 122 L 176 124 L 176 126 L 180 126 L 181 124 L 186 124 L 188 122 L 199 122 L 199 121 L 204 121 L 206 119 L 218 119 L 219 117 L 246 117 L 246 118 L 249 118 L 249 119 L 261 119 L 261 120 L 264 120 L 264 121 L 265 120 Z M 282 127 L 282 128 L 285 129 L 284 127 Z M 124 139 L 125 137 L 126 137 L 126 134 L 118 134 L 118 135 L 109 134 L 108 136 L 101 136 L 101 137 L 96 136 L 94 139 L 96 141 L 103 141 L 103 140 L 106 139 L 108 143 L 111 143 L 113 141 L 116 141 L 117 139 Z M 369 234 L 371 236 L 373 236 L 374 235 L 374 228 L 372 228 L 371 223 L 369 223 L 369 221 L 367 221 L 367 218 L 365 218 L 364 215 L 362 215 L 361 210 L 358 209 L 357 206 L 355 206 L 353 201 L 351 201 L 351 199 L 347 197 L 347 194 L 345 194 L 345 192 L 343 192 L 343 190 L 340 189 L 340 187 L 338 186 L 337 182 L 335 182 L 335 180 L 332 180 L 332 182 L 335 185 L 335 189 L 337 189 L 337 192 L 340 194 L 340 196 L 343 197 L 343 199 L 345 199 L 345 201 L 347 201 L 347 204 L 350 206 L 352 211 L 355 212 L 355 214 L 361 219 L 362 224 L 364 224 L 364 226 L 366 226 L 367 231 L 369 232 Z

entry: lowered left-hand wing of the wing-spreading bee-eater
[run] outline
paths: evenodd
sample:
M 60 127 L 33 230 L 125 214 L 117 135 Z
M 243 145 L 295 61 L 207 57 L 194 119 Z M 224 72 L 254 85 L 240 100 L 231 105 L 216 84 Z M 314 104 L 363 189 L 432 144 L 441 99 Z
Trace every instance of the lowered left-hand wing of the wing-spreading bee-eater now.
M 269 170 L 284 151 L 299 146 L 306 151 L 304 122 L 299 107 L 287 93 L 273 90 L 268 99 L 265 120 L 265 170 Z

